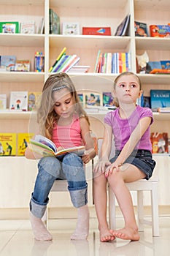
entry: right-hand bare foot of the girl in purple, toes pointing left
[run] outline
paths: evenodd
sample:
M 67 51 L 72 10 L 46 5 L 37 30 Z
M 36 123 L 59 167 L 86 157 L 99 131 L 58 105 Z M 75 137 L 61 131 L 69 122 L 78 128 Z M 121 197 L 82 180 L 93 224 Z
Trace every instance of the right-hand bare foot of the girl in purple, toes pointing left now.
M 138 231 L 130 227 L 122 228 L 120 230 L 114 230 L 112 231 L 112 234 L 117 238 L 125 240 L 139 241 L 140 239 Z

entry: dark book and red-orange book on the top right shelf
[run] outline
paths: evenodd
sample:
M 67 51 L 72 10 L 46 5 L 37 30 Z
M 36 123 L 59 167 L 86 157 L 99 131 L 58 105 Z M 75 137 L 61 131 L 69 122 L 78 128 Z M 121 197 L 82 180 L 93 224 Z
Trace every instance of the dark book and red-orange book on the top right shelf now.
M 136 37 L 170 37 L 170 23 L 167 25 L 150 25 L 147 23 L 134 21 L 134 30 Z

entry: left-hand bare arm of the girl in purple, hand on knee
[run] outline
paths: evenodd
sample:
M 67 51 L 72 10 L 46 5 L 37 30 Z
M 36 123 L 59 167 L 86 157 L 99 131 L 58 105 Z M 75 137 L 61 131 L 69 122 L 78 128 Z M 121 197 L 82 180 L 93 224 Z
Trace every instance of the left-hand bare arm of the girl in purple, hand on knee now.
M 112 149 L 112 127 L 108 124 L 105 124 L 104 127 L 104 138 L 101 146 L 101 156 L 98 164 L 94 168 L 94 172 L 105 172 L 105 168 L 108 165 L 111 165 L 109 162 L 109 155 Z

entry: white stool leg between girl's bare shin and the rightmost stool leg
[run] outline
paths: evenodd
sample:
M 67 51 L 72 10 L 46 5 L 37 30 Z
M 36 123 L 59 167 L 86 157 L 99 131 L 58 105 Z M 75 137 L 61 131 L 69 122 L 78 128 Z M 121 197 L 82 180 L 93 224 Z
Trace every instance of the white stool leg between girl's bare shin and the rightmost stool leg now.
M 143 192 L 142 190 L 137 191 L 137 220 L 139 231 L 144 231 L 144 203 L 143 203 Z

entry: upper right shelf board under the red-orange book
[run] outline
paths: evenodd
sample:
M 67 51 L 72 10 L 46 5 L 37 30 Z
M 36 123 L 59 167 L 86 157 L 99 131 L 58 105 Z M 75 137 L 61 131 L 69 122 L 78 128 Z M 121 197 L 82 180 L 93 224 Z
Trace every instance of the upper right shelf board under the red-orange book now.
M 135 37 L 137 50 L 170 50 L 170 38 Z

